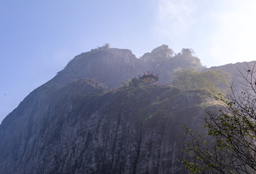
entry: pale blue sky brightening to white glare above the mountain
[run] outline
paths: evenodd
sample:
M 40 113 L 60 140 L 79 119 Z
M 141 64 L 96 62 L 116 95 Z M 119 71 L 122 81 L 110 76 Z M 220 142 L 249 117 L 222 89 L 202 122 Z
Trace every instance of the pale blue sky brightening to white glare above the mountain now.
M 0 122 L 81 52 L 191 48 L 204 66 L 255 60 L 255 0 L 1 0 Z

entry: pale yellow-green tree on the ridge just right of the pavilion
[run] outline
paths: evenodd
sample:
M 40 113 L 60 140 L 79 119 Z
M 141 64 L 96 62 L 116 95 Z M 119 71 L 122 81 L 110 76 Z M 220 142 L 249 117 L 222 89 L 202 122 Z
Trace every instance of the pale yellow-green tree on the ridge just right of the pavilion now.
M 224 71 L 203 71 L 180 69 L 174 73 L 173 85 L 182 90 L 204 90 L 210 94 L 224 92 L 227 89 L 230 75 Z

